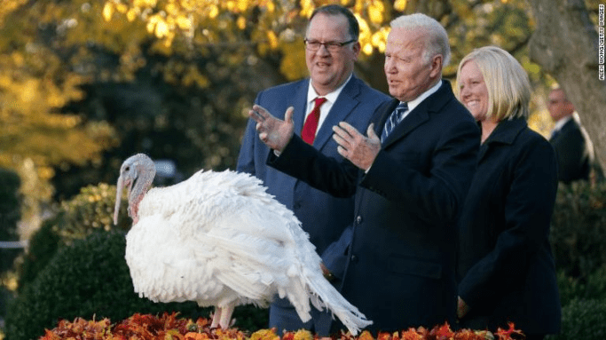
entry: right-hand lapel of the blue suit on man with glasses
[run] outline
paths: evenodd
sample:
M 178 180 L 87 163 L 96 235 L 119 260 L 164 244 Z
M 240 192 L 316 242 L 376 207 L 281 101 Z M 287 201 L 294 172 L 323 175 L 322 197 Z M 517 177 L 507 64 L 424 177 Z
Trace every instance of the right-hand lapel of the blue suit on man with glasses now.
M 345 85 L 339 97 L 328 112 L 327 118 L 320 126 L 316 138 L 313 140 L 313 146 L 318 149 L 324 147 L 328 140 L 333 136 L 333 126 L 342 122 L 351 114 L 353 108 L 358 106 L 358 94 L 360 92 L 358 78 L 351 75 L 350 82 Z M 366 131 L 360 131 L 366 133 Z

